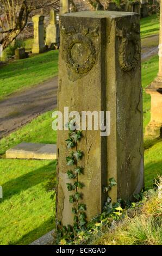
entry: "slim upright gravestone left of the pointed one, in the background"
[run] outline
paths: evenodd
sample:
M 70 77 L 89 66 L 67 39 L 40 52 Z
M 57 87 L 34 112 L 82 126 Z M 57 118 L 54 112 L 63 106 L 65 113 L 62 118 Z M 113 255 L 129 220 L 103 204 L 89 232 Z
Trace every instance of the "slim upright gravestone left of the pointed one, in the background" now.
M 34 44 L 32 48 L 33 53 L 41 53 L 45 51 L 44 43 L 44 16 L 35 15 L 32 20 L 34 23 Z

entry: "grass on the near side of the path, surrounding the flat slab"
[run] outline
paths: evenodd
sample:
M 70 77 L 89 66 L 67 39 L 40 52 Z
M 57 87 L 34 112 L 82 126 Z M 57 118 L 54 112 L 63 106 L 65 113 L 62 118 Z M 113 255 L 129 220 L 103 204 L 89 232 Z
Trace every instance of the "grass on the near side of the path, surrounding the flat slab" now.
M 56 142 L 52 112 L 0 141 L 0 245 L 27 245 L 54 228 L 52 191 L 46 186 L 55 177 L 55 161 L 8 160 L 5 151 L 22 141 Z

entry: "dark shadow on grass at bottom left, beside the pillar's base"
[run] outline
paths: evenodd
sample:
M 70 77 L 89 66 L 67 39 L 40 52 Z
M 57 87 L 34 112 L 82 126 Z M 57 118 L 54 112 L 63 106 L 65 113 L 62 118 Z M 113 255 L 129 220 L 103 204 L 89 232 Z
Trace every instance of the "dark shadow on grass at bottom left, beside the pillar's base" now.
M 41 224 L 38 228 L 35 228 L 29 233 L 23 235 L 20 239 L 18 239 L 15 242 L 10 241 L 8 245 L 29 245 L 30 243 L 39 239 L 41 236 L 47 234 L 49 231 L 53 230 L 54 227 L 54 217 L 50 217 L 47 221 L 43 222 L 43 224 Z

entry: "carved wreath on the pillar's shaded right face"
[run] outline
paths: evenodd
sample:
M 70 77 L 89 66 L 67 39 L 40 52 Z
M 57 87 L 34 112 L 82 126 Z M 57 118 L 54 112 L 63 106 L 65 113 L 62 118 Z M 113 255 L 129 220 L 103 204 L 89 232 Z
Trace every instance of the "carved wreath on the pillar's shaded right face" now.
M 140 59 L 139 29 L 134 24 L 132 28 L 117 29 L 116 35 L 120 38 L 119 62 L 121 69 L 130 71 L 136 67 Z

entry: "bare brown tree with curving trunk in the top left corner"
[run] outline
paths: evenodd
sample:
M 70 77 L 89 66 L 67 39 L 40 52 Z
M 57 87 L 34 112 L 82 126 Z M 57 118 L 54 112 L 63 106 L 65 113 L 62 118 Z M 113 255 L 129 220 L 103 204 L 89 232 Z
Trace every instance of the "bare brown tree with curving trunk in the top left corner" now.
M 0 44 L 6 48 L 23 31 L 29 14 L 45 7 L 59 7 L 59 0 L 0 0 Z

